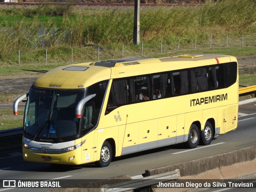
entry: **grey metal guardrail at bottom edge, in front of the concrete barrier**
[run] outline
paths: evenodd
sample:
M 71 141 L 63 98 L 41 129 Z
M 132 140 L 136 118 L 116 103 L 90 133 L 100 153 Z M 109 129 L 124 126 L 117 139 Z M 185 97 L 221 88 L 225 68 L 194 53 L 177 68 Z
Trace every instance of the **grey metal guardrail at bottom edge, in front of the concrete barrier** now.
M 129 180 L 126 182 L 116 184 L 106 184 L 101 186 L 101 192 L 124 192 L 134 190 L 142 187 L 152 186 L 159 184 L 159 182 L 168 182 L 180 178 L 180 170 L 176 169 L 171 172 L 156 174 L 153 176 L 144 177 L 141 179 Z

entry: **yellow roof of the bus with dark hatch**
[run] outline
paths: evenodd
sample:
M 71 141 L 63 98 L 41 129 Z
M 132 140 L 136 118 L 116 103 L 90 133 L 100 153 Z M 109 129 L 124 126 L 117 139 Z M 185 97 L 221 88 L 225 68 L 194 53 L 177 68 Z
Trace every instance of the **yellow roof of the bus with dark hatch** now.
M 33 85 L 43 88 L 78 89 L 111 78 L 137 76 L 224 62 L 237 62 L 237 60 L 233 56 L 200 54 L 88 62 L 61 66 L 50 70 L 40 76 Z

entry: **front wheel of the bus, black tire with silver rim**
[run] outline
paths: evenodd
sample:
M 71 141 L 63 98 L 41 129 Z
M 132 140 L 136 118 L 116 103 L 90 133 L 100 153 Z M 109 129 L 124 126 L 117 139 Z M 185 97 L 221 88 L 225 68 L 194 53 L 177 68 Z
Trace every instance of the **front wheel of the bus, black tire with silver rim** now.
M 111 160 L 112 160 L 112 146 L 108 141 L 104 141 L 102 148 L 100 150 L 100 160 L 99 160 L 99 165 L 101 167 L 107 167 Z

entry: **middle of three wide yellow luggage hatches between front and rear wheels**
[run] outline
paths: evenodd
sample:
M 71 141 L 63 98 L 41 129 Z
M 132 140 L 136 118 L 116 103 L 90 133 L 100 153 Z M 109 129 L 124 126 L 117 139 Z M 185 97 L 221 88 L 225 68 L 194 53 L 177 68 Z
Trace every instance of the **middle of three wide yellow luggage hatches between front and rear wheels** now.
M 158 119 L 140 122 L 138 151 L 157 147 Z

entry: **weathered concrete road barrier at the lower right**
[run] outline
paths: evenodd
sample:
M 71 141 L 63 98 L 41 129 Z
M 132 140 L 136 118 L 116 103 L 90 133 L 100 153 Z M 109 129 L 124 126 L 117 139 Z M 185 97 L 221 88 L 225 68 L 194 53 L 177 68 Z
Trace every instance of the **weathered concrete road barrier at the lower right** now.
M 160 168 L 149 169 L 146 170 L 145 176 L 152 176 L 154 174 L 179 169 L 181 179 L 185 177 L 189 178 L 189 176 L 192 176 L 191 178 L 195 178 L 196 176 L 197 179 L 205 179 L 205 177 L 199 178 L 198 176 L 205 172 L 217 170 L 217 172 L 222 175 L 221 179 L 230 179 L 237 178 L 238 176 L 244 176 L 245 174 L 249 175 L 252 173 L 256 173 L 256 164 L 252 164 L 255 161 L 256 146 L 253 146 L 224 154 L 219 154 L 216 156 L 201 158 L 198 160 L 192 160 Z M 246 170 L 246 165 L 250 166 L 248 170 Z M 242 168 L 239 168 L 239 166 L 242 166 Z M 236 169 L 233 169 L 232 167 L 236 167 Z M 230 169 L 233 171 L 230 172 Z

